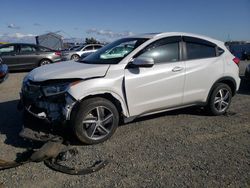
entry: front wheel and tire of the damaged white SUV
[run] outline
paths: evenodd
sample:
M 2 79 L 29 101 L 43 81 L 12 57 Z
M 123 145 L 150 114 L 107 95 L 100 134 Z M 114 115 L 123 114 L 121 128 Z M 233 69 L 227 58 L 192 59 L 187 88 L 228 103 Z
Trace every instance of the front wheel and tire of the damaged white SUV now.
M 114 134 L 118 124 L 117 108 L 100 97 L 83 101 L 71 120 L 74 135 L 84 144 L 106 141 Z

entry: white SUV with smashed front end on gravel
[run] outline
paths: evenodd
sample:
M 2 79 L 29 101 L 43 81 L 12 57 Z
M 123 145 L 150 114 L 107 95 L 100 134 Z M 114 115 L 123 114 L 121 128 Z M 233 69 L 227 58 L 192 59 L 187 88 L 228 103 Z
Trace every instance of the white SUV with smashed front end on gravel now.
M 32 116 L 66 122 L 81 142 L 96 144 L 121 120 L 192 105 L 224 114 L 240 85 L 238 63 L 223 42 L 204 36 L 123 38 L 78 62 L 34 69 L 21 101 Z

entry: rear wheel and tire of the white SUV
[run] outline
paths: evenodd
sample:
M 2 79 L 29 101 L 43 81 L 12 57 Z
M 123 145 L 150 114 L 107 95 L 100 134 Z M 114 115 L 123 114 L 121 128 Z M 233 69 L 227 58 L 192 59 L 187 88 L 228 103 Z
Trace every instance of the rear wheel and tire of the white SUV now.
M 210 95 L 207 109 L 211 115 L 219 116 L 226 113 L 232 99 L 231 88 L 224 83 L 217 83 Z

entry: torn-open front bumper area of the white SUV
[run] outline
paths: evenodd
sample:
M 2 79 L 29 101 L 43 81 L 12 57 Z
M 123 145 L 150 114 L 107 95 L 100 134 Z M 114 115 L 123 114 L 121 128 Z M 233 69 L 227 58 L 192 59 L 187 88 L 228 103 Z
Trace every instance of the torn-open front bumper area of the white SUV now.
M 62 128 L 70 120 L 76 103 L 67 92 L 45 96 L 38 85 L 23 87 L 18 104 L 18 109 L 23 110 L 24 124 L 20 136 L 39 141 L 51 139 L 56 125 Z

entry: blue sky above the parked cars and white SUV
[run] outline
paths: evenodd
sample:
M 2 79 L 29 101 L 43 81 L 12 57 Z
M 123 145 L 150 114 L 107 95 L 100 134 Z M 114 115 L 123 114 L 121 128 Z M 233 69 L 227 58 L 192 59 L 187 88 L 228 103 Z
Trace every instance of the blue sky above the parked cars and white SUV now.
M 0 41 L 50 31 L 106 41 L 163 31 L 250 41 L 250 0 L 1 0 L 0 10 Z

